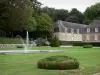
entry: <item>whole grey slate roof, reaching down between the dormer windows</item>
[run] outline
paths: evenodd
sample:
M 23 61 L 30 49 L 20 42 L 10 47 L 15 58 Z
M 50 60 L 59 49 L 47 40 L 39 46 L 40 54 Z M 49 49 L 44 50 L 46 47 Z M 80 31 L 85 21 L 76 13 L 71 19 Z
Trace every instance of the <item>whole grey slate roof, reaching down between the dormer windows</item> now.
M 80 33 L 84 33 L 84 32 L 86 33 L 87 28 L 90 28 L 91 32 L 95 32 L 94 28 L 99 28 L 99 32 L 100 32 L 100 20 L 95 20 L 89 25 L 58 20 L 57 22 L 55 22 L 54 28 L 56 28 L 57 29 L 56 31 L 59 32 L 65 32 L 65 28 L 68 29 L 68 32 L 71 32 L 71 29 L 74 30 L 80 29 Z

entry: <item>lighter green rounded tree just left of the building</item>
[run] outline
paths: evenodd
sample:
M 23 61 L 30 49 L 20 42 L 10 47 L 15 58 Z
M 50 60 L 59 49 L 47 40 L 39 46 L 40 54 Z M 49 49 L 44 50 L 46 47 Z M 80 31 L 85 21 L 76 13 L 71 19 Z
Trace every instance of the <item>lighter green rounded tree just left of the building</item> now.
M 38 17 L 38 23 L 37 31 L 43 36 L 53 33 L 53 21 L 47 14 L 41 13 Z

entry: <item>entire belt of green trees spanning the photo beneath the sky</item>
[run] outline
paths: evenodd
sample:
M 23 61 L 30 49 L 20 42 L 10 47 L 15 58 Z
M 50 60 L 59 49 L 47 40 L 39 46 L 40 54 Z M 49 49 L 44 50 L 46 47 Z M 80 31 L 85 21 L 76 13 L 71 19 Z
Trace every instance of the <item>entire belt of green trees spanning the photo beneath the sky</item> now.
M 0 36 L 25 37 L 29 31 L 32 38 L 52 38 L 57 20 L 89 24 L 100 19 L 100 2 L 84 13 L 76 8 L 68 11 L 41 5 L 38 0 L 0 0 Z

